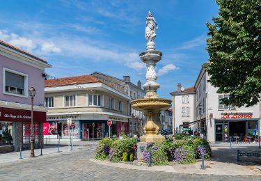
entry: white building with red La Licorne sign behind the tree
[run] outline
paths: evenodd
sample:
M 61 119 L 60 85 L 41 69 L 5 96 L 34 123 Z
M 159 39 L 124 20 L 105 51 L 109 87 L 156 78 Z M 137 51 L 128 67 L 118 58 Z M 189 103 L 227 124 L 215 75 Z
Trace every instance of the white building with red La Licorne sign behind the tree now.
M 207 140 L 212 142 L 228 141 L 229 136 L 253 136 L 260 121 L 260 104 L 253 107 L 221 104 L 221 99 L 229 99 L 229 95 L 216 93 L 218 88 L 212 86 L 208 80 L 209 74 L 202 68 L 194 86 L 195 120 L 200 122 L 200 133 L 205 134 Z

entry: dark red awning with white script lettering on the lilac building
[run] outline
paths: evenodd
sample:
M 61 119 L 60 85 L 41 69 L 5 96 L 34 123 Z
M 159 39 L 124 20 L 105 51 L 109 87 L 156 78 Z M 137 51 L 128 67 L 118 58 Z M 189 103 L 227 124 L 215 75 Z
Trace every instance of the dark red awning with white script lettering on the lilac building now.
M 0 121 L 31 123 L 31 111 L 0 107 Z M 46 112 L 33 111 L 34 123 L 45 123 Z

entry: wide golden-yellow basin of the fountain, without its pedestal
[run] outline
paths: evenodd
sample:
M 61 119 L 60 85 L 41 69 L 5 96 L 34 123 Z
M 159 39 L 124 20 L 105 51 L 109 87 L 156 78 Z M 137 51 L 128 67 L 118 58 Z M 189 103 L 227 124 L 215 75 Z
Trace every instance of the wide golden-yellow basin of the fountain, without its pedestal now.
M 171 100 L 163 98 L 143 98 L 132 101 L 132 107 L 139 111 L 166 110 L 171 107 Z

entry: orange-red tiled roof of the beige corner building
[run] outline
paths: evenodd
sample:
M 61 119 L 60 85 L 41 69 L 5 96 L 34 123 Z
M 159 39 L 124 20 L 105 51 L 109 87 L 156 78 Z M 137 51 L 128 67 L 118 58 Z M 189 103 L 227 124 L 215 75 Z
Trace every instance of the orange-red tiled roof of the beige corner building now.
M 80 75 L 76 77 L 64 77 L 59 79 L 49 79 L 45 80 L 45 87 L 54 87 L 54 86 L 68 86 L 75 84 L 88 84 L 100 82 L 99 79 L 91 75 Z

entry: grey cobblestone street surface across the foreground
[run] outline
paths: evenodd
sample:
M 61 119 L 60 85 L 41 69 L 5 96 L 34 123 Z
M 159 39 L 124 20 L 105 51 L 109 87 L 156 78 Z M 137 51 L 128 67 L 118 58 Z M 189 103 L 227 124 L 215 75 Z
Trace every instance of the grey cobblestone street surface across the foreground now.
M 0 180 L 261 180 L 254 176 L 138 171 L 90 162 L 94 150 L 44 155 L 0 165 Z

